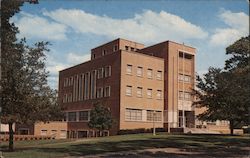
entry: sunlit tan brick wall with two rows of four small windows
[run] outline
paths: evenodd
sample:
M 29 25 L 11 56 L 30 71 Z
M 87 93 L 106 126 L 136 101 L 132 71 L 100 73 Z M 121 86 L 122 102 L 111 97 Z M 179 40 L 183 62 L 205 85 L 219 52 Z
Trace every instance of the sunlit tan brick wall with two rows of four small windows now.
M 152 128 L 153 122 L 149 121 L 126 121 L 125 109 L 164 110 L 164 99 L 156 99 L 156 90 L 164 92 L 164 78 L 156 79 L 156 71 L 164 72 L 164 60 L 139 53 L 123 51 L 121 55 L 121 89 L 120 89 L 120 129 Z M 126 72 L 127 64 L 132 65 L 132 75 Z M 143 76 L 137 76 L 137 67 L 143 67 Z M 147 69 L 153 69 L 153 78 L 148 79 Z M 162 74 L 162 77 L 163 74 Z M 132 96 L 126 96 L 126 86 L 132 86 Z M 137 97 L 137 87 L 142 87 L 142 98 Z M 152 99 L 147 98 L 147 88 L 153 89 Z M 163 117 L 162 117 L 163 120 Z M 163 121 L 155 124 L 163 127 Z

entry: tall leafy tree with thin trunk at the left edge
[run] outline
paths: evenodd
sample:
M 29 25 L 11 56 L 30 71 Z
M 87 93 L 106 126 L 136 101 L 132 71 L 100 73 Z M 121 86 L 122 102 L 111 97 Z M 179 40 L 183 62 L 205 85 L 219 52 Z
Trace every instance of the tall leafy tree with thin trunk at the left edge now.
M 33 124 L 62 117 L 56 91 L 47 84 L 45 52 L 48 42 L 33 47 L 25 39 L 17 40 L 18 28 L 9 19 L 23 5 L 22 1 L 1 2 L 1 121 L 9 124 L 9 150 L 13 151 L 13 124 Z

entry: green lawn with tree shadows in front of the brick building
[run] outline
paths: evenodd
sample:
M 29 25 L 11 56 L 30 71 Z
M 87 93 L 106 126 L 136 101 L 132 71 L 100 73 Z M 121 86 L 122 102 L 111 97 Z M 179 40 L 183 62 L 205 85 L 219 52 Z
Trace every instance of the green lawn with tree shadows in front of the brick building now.
M 1 149 L 6 158 L 85 156 L 106 152 L 133 151 L 153 148 L 178 148 L 183 151 L 199 152 L 200 155 L 196 155 L 197 157 L 241 157 L 249 154 L 249 142 L 249 135 L 223 136 L 159 134 L 152 136 L 152 134 L 134 134 L 81 140 L 19 141 L 15 142 L 15 152 L 7 152 L 7 143 L 2 143 Z M 166 153 L 153 155 L 153 153 L 145 152 L 141 154 L 151 154 L 152 157 L 178 157 L 178 155 L 164 155 Z M 130 157 L 133 157 L 133 155 L 130 155 Z

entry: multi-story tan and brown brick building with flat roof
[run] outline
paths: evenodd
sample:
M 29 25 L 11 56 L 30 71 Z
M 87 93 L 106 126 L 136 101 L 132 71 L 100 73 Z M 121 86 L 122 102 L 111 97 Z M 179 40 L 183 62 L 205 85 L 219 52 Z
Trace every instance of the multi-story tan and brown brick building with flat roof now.
M 91 50 L 91 60 L 59 73 L 60 104 L 70 136 L 90 134 L 95 102 L 110 108 L 123 129 L 194 125 L 195 48 L 171 41 L 144 48 L 116 39 Z M 184 117 L 182 117 L 184 116 Z

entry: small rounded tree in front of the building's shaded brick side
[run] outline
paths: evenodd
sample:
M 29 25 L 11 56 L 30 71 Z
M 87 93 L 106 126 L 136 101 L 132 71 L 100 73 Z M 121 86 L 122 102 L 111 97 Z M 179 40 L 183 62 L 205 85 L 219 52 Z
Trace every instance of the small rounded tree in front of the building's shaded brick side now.
M 100 131 L 101 135 L 104 130 L 109 130 L 114 123 L 111 111 L 100 103 L 95 103 L 94 108 L 90 111 L 90 121 L 88 126 Z

